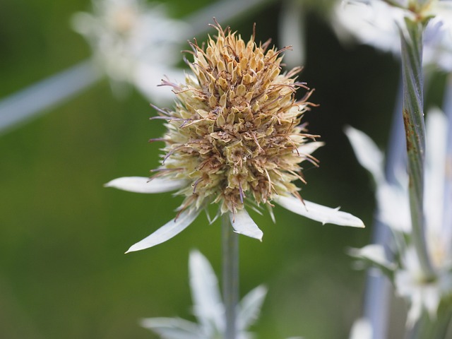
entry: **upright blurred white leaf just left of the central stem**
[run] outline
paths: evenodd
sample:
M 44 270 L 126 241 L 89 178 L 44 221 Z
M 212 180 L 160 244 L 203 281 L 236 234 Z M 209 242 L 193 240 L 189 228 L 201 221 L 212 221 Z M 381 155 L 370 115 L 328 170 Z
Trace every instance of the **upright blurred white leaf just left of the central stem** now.
M 203 328 L 215 326 L 216 330 L 222 331 L 225 327 L 223 318 L 225 309 L 212 266 L 199 251 L 191 251 L 189 268 L 194 314 Z

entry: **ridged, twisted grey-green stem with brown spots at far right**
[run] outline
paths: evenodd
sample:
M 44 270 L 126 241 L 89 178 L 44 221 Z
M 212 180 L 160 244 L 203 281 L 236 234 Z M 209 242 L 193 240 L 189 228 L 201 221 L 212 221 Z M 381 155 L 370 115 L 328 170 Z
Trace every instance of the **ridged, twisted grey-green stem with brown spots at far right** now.
M 412 242 L 425 278 L 433 278 L 424 232 L 425 124 L 422 76 L 422 32 L 424 24 L 405 18 L 400 30 L 403 71 L 403 122 L 408 154 Z

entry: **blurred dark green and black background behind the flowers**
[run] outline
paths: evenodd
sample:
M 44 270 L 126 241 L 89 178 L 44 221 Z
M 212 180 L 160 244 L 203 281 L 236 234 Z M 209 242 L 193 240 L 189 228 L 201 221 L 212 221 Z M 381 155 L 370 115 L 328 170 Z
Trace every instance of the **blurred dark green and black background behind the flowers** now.
M 213 1 L 165 2 L 182 18 Z M 278 44 L 281 6 L 273 1 L 222 25 L 248 37 L 256 22 L 257 40 Z M 69 27 L 74 12 L 90 8 L 88 0 L 2 0 L 0 98 L 90 57 Z M 321 11 L 305 11 L 300 79 L 316 88 L 311 100 L 320 104 L 305 121 L 326 146 L 316 153 L 321 167 L 305 171 L 302 196 L 341 206 L 367 229 L 321 225 L 278 207 L 276 225 L 252 214 L 264 238 L 241 237 L 240 284 L 242 295 L 261 283 L 269 288 L 258 338 L 346 338 L 361 314 L 364 273 L 352 269 L 346 249 L 369 242 L 374 198 L 343 127 L 362 129 L 383 147 L 397 88 L 391 56 L 343 47 Z M 169 242 L 124 255 L 173 218 L 180 200 L 102 187 L 157 166 L 159 145 L 148 139 L 164 129 L 148 120 L 153 115 L 148 100 L 136 92 L 117 100 L 104 80 L 0 135 L 0 338 L 157 338 L 138 319 L 192 319 L 189 251 L 200 249 L 219 272 L 219 223 L 201 215 Z

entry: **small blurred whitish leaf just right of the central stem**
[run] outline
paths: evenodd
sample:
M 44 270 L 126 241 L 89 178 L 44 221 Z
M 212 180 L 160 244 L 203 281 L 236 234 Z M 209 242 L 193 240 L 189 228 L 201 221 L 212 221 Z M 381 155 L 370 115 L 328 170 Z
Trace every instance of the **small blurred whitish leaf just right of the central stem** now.
M 260 285 L 244 296 L 240 302 L 237 316 L 237 328 L 239 331 L 246 331 L 258 319 L 263 299 L 265 299 L 266 295 L 267 287 Z

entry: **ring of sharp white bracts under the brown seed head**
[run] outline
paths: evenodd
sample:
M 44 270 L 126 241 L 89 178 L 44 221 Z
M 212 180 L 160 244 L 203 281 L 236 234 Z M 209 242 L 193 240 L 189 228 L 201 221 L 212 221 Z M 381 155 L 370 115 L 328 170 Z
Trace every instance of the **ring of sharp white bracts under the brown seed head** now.
M 303 157 L 304 160 L 309 161 L 309 155 L 311 152 L 314 152 L 314 150 L 316 150 L 316 148 L 320 145 L 322 145 L 320 142 L 302 145 L 298 149 L 299 156 Z M 155 179 L 149 179 L 146 177 L 121 177 L 105 184 L 106 187 L 114 187 L 116 189 L 136 193 L 160 193 L 165 191 L 175 191 L 177 189 L 184 189 L 189 185 L 190 183 L 184 180 L 170 180 L 160 177 L 156 177 Z M 273 201 L 293 213 L 319 221 L 322 224 L 331 223 L 341 226 L 364 227 L 362 220 L 354 215 L 351 215 L 350 213 L 340 211 L 339 208 L 329 208 L 306 200 L 301 201 L 295 196 L 278 196 Z M 179 212 L 179 215 L 177 215 L 174 220 L 170 220 L 167 224 L 160 227 L 160 229 L 131 246 L 127 252 L 147 249 L 157 244 L 161 244 L 162 242 L 166 242 L 185 230 L 186 227 L 188 227 L 191 222 L 196 219 L 202 210 L 203 208 L 187 208 L 186 210 Z M 228 213 L 230 214 L 230 220 L 234 232 L 246 235 L 247 237 L 262 240 L 263 232 L 251 219 L 245 208 L 238 210 L 237 213 Z

